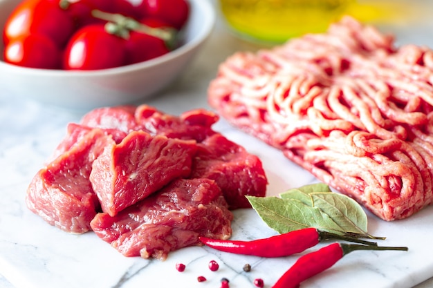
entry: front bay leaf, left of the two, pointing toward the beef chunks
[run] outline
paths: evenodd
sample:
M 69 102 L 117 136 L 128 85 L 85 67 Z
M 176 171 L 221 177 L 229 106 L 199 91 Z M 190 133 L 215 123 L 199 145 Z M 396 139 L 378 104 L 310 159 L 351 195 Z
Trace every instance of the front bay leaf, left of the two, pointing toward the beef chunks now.
M 271 229 L 287 233 L 307 227 L 343 235 L 341 227 L 317 207 L 311 207 L 300 200 L 278 197 L 247 196 L 255 211 Z

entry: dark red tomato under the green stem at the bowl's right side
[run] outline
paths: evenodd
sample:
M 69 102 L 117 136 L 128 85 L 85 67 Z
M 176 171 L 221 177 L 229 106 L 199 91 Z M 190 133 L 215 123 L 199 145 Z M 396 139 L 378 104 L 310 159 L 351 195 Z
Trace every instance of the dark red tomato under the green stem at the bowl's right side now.
M 167 26 L 158 19 L 145 19 L 141 23 L 153 28 Z M 127 64 L 146 61 L 169 52 L 169 48 L 167 48 L 163 39 L 136 31 L 130 32 L 129 39 L 125 44 L 125 50 L 127 51 Z

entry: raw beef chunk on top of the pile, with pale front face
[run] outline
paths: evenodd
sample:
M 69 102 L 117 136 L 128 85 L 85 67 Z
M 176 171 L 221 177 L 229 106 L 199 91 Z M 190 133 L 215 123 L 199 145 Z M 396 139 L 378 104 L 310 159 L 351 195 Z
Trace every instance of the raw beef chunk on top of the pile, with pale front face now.
M 116 215 L 178 177 L 191 172 L 195 141 L 132 131 L 120 144 L 108 145 L 90 174 L 102 211 Z

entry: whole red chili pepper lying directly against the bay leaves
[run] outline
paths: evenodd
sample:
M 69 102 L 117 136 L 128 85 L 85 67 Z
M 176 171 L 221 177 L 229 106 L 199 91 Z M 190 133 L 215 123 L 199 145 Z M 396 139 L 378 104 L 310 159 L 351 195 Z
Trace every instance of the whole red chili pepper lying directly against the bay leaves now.
M 315 228 L 295 230 L 272 236 L 270 238 L 252 241 L 215 240 L 199 237 L 201 242 L 219 251 L 267 258 L 284 257 L 300 253 L 315 246 L 320 241 L 329 239 L 344 239 L 363 244 L 375 244 L 356 238 L 349 238 L 326 231 L 320 231 Z

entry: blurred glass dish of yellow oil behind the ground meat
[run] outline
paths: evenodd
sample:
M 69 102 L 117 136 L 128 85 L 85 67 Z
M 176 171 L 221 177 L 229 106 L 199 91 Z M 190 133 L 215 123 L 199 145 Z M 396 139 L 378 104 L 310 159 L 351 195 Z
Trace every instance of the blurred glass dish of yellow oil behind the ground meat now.
M 324 32 L 329 23 L 351 15 L 365 23 L 412 38 L 431 28 L 430 0 L 214 0 L 220 16 L 243 39 L 277 44 L 309 32 Z M 426 27 L 430 26 L 430 27 Z M 431 31 L 431 30 L 430 30 Z M 428 34 L 427 34 L 428 35 Z M 405 35 L 407 36 L 407 35 Z M 423 37 L 425 38 L 425 36 Z M 430 37 L 429 37 L 430 38 Z

